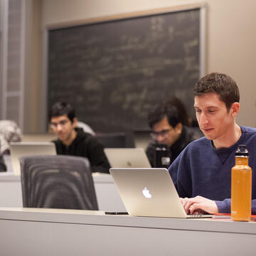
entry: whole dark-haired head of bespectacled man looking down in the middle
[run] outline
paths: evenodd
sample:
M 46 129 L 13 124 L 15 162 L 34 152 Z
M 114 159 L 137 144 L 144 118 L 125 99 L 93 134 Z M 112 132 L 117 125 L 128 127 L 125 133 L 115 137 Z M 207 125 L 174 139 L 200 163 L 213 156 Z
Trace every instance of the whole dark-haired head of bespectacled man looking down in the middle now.
M 171 102 L 156 105 L 148 114 L 151 137 L 159 144 L 172 146 L 182 132 L 182 121 L 178 107 Z

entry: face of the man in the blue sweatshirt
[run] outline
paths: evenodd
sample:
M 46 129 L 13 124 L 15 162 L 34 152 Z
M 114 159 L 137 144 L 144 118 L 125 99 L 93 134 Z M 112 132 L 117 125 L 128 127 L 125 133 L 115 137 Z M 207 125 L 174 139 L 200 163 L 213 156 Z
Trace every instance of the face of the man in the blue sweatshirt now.
M 214 142 L 228 138 L 234 124 L 233 107 L 228 111 L 215 93 L 196 96 L 194 107 L 199 127 L 207 139 Z

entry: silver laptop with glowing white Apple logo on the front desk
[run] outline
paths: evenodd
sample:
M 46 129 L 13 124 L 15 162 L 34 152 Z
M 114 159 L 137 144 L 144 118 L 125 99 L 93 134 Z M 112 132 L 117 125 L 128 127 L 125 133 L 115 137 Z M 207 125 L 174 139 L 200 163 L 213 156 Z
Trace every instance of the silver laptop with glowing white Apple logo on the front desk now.
M 111 168 L 119 194 L 129 215 L 167 218 L 211 218 L 186 215 L 176 188 L 164 168 Z

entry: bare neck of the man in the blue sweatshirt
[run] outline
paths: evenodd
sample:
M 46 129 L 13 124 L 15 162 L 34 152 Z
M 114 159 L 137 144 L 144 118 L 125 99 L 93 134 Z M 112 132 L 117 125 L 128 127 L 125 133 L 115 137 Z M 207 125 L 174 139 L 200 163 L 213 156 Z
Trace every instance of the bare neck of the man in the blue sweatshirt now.
M 238 124 L 234 124 L 233 129 L 228 129 L 228 133 L 220 139 L 213 140 L 213 145 L 216 149 L 228 148 L 238 142 L 242 135 L 242 130 Z

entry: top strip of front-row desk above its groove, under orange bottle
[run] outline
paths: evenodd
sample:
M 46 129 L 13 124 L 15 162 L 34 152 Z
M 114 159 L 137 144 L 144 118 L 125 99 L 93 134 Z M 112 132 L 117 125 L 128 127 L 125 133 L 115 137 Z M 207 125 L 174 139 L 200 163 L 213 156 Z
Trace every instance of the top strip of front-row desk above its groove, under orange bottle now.
M 211 218 L 186 219 L 105 215 L 105 212 L 100 210 L 0 207 L 0 219 L 90 225 L 114 225 L 138 228 L 197 230 L 256 235 L 255 222 L 235 222 L 232 220 L 216 220 Z

